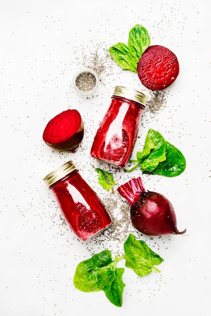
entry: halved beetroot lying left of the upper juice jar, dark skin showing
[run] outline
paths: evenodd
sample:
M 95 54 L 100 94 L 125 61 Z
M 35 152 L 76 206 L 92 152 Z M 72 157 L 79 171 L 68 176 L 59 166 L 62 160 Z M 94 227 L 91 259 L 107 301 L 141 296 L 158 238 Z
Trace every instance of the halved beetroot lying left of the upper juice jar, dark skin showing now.
M 74 150 L 84 137 L 84 122 L 77 110 L 66 110 L 46 125 L 44 142 L 59 150 Z

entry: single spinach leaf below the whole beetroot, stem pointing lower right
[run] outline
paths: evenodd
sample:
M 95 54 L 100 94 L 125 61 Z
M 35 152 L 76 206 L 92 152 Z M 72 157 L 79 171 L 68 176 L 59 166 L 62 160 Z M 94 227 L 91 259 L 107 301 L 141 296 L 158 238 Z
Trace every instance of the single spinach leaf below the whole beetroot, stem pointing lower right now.
M 139 277 L 143 277 L 155 269 L 154 265 L 160 265 L 163 259 L 155 253 L 142 240 L 136 240 L 133 234 L 124 242 L 125 267 L 132 269 Z

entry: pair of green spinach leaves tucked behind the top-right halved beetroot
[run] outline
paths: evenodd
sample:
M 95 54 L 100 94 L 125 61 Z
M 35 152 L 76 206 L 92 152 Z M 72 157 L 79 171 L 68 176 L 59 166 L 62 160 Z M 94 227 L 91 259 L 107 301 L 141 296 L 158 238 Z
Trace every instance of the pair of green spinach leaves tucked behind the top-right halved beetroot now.
M 150 46 L 147 29 L 136 24 L 130 31 L 128 45 L 122 42 L 109 47 L 113 60 L 123 69 L 137 72 L 137 63 L 143 52 Z

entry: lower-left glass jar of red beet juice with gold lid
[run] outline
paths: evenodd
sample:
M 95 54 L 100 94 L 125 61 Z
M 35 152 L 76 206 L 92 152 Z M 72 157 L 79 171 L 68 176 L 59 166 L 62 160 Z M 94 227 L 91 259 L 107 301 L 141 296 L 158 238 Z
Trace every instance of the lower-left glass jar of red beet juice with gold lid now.
M 56 196 L 69 227 L 87 240 L 108 227 L 112 220 L 95 191 L 81 177 L 72 161 L 43 178 Z

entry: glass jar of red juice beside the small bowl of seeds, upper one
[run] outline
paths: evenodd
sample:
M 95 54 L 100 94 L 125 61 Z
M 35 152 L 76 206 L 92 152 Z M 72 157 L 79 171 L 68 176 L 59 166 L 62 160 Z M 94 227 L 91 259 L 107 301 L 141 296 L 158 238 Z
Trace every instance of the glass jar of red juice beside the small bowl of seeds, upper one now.
M 91 156 L 124 168 L 138 133 L 148 96 L 137 90 L 116 86 L 91 148 Z

